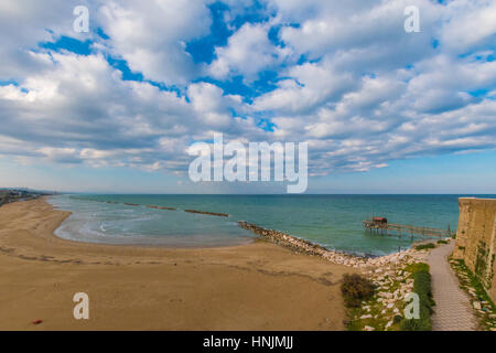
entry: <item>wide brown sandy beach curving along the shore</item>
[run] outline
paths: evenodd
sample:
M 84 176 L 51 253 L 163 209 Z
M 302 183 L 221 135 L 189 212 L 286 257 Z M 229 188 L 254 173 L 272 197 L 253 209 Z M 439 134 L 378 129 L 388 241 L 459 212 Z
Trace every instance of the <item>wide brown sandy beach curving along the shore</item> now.
M 0 330 L 344 330 L 352 268 L 274 244 L 204 249 L 69 242 L 43 199 L 0 207 Z M 89 296 L 75 320 L 73 296 Z M 42 320 L 40 324 L 33 324 Z

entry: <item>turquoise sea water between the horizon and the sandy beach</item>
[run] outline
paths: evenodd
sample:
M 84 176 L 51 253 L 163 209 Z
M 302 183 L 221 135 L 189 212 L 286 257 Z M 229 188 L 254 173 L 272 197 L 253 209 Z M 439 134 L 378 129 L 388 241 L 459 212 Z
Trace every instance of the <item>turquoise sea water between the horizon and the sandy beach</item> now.
M 359 255 L 384 255 L 397 252 L 399 247 L 409 247 L 410 238 L 370 234 L 364 231 L 362 221 L 370 215 L 381 215 L 391 223 L 438 228 L 450 225 L 454 231 L 460 196 L 61 195 L 50 202 L 73 212 L 55 234 L 80 242 L 176 247 L 229 246 L 251 242 L 254 235 L 237 225 L 237 221 L 247 221 L 327 248 Z M 144 205 L 170 206 L 177 211 L 152 210 Z M 182 211 L 186 208 L 228 213 L 229 217 Z

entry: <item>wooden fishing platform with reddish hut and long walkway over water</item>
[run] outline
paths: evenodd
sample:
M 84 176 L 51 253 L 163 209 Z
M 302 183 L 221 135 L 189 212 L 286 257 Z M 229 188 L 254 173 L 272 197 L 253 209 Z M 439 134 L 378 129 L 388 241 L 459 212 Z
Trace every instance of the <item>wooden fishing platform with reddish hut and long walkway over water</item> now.
M 413 238 L 416 235 L 424 237 L 450 237 L 452 232 L 450 225 L 448 229 L 419 227 L 414 225 L 388 223 L 385 217 L 371 217 L 364 221 L 364 227 L 373 233 L 381 235 L 395 235 L 395 236 L 410 236 Z

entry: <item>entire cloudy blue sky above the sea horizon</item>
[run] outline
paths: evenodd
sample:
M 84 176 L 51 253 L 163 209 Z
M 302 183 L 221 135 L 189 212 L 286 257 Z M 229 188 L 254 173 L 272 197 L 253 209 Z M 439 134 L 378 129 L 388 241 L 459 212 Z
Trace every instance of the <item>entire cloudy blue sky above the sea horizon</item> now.
M 0 185 L 285 190 L 192 183 L 188 146 L 223 132 L 309 142 L 311 193 L 496 193 L 495 19 L 489 0 L 2 1 Z

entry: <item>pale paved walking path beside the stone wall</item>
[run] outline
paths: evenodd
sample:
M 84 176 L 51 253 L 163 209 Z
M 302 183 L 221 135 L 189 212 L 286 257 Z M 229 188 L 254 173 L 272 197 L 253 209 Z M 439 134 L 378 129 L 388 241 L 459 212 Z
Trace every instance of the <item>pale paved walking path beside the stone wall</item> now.
M 432 293 L 435 301 L 432 315 L 433 331 L 474 331 L 477 320 L 468 296 L 459 287 L 459 279 L 450 267 L 448 256 L 454 242 L 432 249 L 428 264 L 432 275 Z

